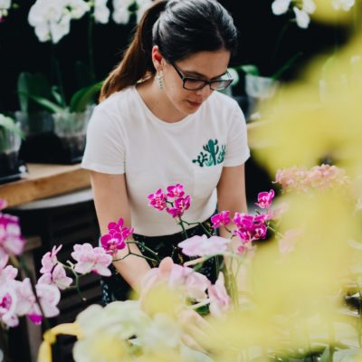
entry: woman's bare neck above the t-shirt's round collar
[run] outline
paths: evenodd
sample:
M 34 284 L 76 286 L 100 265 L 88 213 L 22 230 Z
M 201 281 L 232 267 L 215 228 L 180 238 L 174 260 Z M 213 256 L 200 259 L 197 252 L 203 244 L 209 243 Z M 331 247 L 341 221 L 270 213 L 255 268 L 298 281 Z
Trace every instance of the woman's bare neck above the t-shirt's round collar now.
M 137 85 L 138 94 L 149 110 L 167 123 L 176 123 L 185 119 L 186 115 L 176 110 L 168 99 L 165 90 L 160 90 L 154 77 Z

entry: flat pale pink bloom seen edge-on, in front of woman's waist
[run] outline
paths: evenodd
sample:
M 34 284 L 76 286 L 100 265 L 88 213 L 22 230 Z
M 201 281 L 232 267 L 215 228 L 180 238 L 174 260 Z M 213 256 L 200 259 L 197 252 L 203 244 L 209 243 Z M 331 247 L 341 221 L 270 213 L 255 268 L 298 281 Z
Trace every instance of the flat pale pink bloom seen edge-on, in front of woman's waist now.
M 195 235 L 178 243 L 178 247 L 187 256 L 205 256 L 223 254 L 226 252 L 228 244 L 229 240 L 220 236 L 207 238 L 206 235 Z

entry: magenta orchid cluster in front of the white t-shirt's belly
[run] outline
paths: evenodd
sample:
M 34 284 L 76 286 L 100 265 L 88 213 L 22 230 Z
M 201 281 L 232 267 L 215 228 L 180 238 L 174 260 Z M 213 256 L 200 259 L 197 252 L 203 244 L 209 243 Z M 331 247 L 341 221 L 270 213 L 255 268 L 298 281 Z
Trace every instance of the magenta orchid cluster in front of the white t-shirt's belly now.
M 191 205 L 191 196 L 185 195 L 181 184 L 167 186 L 167 193 L 158 189 L 154 194 L 148 195 L 148 205 L 162 211 L 166 209 L 172 217 L 181 217 Z

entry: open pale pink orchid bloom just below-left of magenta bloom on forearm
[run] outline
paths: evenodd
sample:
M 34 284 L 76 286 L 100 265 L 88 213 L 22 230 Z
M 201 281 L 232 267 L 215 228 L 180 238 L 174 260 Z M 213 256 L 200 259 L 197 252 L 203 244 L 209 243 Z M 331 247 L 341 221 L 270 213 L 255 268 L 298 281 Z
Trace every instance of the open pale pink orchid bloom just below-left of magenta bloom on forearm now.
M 90 243 L 75 244 L 71 257 L 77 261 L 74 271 L 87 274 L 90 271 L 103 276 L 110 276 L 112 257 L 100 247 L 93 248 Z

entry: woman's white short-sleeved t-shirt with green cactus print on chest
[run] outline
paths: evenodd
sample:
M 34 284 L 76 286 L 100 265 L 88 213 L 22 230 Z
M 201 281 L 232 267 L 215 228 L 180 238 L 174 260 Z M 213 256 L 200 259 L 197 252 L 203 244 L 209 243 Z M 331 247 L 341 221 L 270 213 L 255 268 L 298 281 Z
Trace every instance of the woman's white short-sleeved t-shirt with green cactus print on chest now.
M 149 194 L 184 185 L 191 195 L 185 220 L 203 222 L 216 208 L 223 167 L 242 165 L 249 156 L 243 112 L 232 98 L 214 91 L 194 114 L 168 123 L 129 87 L 93 111 L 82 167 L 125 174 L 135 233 L 157 236 L 182 230 L 166 210 L 148 206 Z

